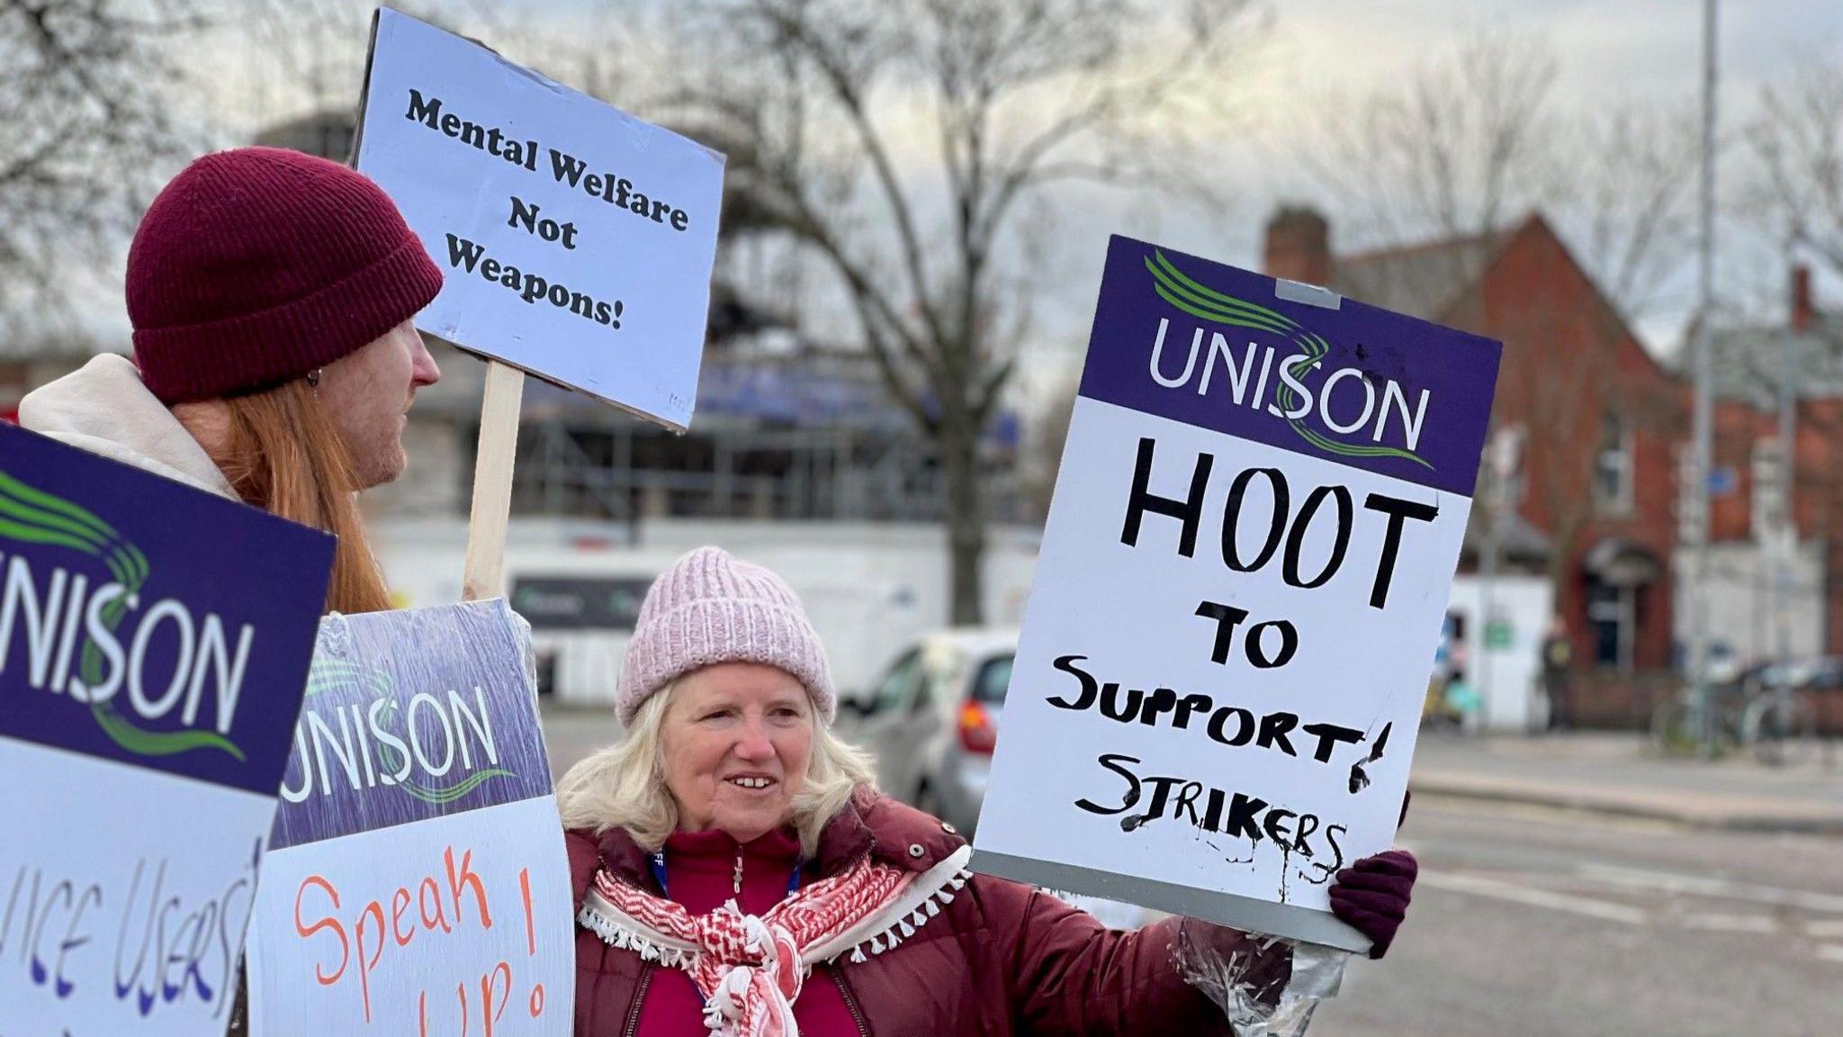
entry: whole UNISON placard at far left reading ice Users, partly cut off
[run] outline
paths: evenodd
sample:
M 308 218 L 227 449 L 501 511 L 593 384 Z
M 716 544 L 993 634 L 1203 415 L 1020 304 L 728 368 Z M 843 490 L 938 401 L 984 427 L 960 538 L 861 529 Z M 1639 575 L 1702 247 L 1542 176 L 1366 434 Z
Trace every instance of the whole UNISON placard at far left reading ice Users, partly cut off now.
M 0 1037 L 223 1033 L 332 559 L 0 423 Z

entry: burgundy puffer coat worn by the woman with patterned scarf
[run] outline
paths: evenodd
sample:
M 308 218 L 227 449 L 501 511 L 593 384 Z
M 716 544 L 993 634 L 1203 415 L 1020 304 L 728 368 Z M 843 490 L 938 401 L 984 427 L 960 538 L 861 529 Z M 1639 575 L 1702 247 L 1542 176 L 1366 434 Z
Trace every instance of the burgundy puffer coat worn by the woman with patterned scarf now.
M 569 873 L 577 906 L 597 867 L 658 893 L 647 852 L 621 828 L 571 830 Z M 820 836 L 809 880 L 844 871 L 859 856 L 927 871 L 964 845 L 951 827 L 885 795 L 861 793 Z M 920 847 L 920 852 L 916 852 Z M 1218 952 L 1255 954 L 1235 930 L 1165 919 L 1115 932 L 1093 915 L 1017 882 L 973 876 L 940 917 L 899 947 L 864 961 L 816 969 L 839 983 L 861 1031 L 907 1035 L 1227 1035 L 1222 1011 L 1185 983 L 1172 965 L 1181 926 Z M 603 943 L 577 926 L 577 1037 L 634 1037 L 651 972 L 658 965 Z M 1274 996 L 1290 971 L 1283 945 L 1257 958 L 1255 982 Z

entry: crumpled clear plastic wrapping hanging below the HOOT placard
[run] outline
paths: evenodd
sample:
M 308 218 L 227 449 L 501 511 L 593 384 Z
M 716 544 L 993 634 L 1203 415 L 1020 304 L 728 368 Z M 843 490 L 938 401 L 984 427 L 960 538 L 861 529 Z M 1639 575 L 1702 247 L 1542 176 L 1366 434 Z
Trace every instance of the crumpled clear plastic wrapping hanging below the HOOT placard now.
M 1310 1026 L 1318 1004 L 1336 996 L 1351 954 L 1277 936 L 1250 939 L 1250 948 L 1224 954 L 1196 939 L 1185 926 L 1172 945 L 1178 974 L 1216 1002 L 1237 1037 L 1299 1037 Z M 1292 972 L 1279 993 L 1262 976 L 1266 956 L 1275 945 L 1292 950 Z

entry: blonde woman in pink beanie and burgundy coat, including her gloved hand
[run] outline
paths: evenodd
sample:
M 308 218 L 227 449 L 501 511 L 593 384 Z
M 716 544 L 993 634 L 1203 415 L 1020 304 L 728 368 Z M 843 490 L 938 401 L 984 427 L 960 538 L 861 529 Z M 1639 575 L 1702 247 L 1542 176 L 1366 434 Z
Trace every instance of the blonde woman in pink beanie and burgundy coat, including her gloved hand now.
M 1183 917 L 1111 930 L 966 871 L 953 825 L 881 795 L 833 734 L 798 594 L 721 548 L 647 590 L 616 710 L 623 740 L 557 786 L 577 1037 L 1229 1035 L 1189 976 L 1235 961 L 1237 1013 L 1285 993 L 1285 943 Z M 1331 895 L 1380 956 L 1412 884 L 1391 852 Z

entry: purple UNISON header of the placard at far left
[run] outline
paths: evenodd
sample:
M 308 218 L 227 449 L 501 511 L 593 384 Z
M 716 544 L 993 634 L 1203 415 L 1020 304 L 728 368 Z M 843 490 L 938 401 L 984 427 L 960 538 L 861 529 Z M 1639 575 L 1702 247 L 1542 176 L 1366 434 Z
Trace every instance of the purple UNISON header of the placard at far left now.
M 334 539 L 0 423 L 0 736 L 275 795 Z

